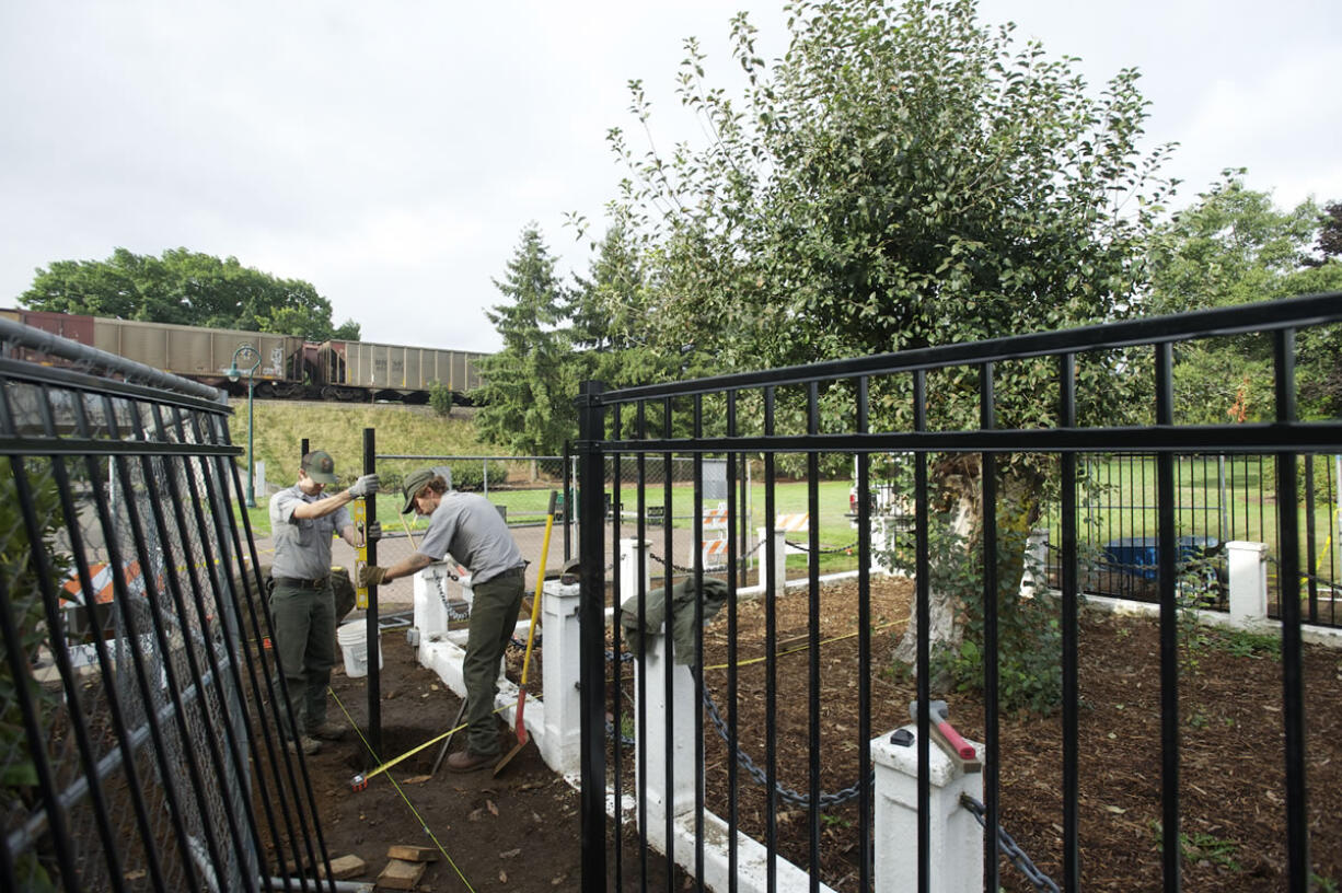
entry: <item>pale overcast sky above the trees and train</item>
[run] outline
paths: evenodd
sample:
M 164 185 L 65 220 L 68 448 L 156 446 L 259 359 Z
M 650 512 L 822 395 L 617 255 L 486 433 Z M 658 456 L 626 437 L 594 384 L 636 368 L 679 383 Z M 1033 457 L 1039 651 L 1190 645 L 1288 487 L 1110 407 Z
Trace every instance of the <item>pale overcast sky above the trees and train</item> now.
M 365 341 L 497 350 L 484 308 L 522 228 L 586 271 L 565 213 L 600 221 L 615 194 L 627 80 L 662 146 L 692 134 L 682 42 L 730 79 L 738 8 L 781 54 L 782 3 L 762 0 L 0 0 L 0 306 L 54 260 L 185 247 L 313 283 Z M 1228 166 L 1279 206 L 1342 200 L 1338 0 L 980 15 L 1080 56 L 1096 90 L 1138 67 L 1150 139 L 1181 143 L 1181 201 Z

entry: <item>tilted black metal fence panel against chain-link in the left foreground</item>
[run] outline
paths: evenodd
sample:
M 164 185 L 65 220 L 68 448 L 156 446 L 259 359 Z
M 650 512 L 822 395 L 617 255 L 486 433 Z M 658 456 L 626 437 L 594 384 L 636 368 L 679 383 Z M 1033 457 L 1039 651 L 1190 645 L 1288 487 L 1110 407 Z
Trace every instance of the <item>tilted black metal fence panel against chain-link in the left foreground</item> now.
M 0 888 L 317 888 L 228 412 L 0 320 Z

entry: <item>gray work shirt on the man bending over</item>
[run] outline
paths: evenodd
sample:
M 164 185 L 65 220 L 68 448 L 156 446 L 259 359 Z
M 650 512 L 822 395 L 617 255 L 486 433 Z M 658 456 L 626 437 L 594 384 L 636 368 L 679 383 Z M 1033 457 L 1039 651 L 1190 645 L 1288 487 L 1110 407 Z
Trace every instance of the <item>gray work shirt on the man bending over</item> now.
M 428 532 L 419 554 L 435 562 L 451 554 L 471 571 L 471 582 L 483 583 L 514 567 L 526 566 L 499 510 L 476 493 L 450 489 L 429 515 Z

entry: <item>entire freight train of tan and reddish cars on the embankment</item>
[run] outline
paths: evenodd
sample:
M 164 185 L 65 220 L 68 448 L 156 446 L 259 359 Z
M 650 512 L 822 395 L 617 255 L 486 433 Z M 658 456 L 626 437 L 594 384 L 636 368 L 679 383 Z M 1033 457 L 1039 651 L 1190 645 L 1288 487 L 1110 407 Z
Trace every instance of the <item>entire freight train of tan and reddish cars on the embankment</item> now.
M 310 400 L 428 401 L 436 382 L 459 401 L 480 385 L 478 362 L 488 354 L 358 341 L 305 342 L 294 335 L 172 323 L 110 319 L 39 310 L 0 310 L 0 316 L 42 329 L 110 354 L 134 359 L 185 378 L 246 393 L 247 378 L 231 382 L 227 370 L 239 347 L 260 354 L 252 373 L 258 397 Z M 30 359 L 43 359 L 30 357 Z M 239 357 L 246 370 L 255 361 Z

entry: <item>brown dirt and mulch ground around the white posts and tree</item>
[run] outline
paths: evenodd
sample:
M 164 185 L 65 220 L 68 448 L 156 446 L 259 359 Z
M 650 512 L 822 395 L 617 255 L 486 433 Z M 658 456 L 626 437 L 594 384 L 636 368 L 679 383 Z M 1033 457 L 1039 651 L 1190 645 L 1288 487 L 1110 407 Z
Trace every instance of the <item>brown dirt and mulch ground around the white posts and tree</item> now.
M 890 672 L 890 652 L 907 618 L 907 582 L 876 579 L 872 598 L 872 731 L 888 732 L 907 721 L 913 681 Z M 777 601 L 780 782 L 807 790 L 805 692 L 812 672 L 805 633 L 807 597 Z M 840 791 L 858 771 L 856 586 L 828 586 L 821 598 L 821 787 Z M 764 610 L 742 603 L 737 661 L 741 748 L 764 766 Z M 1286 880 L 1282 744 L 1282 673 L 1275 656 L 1243 649 L 1243 642 L 1210 637 L 1184 654 L 1180 691 L 1180 803 L 1186 838 L 1184 885 L 1190 890 L 1280 890 Z M 544 641 L 544 640 L 542 640 Z M 800 644 L 798 644 L 800 642 Z M 726 713 L 727 617 L 706 632 L 705 673 L 713 697 Z M 382 740 L 386 758 L 400 755 L 446 731 L 458 701 L 415 661 L 400 630 L 384 636 Z M 544 649 L 535 656 L 544 662 Z M 533 656 L 533 660 L 535 660 Z M 510 653 L 510 674 L 521 653 Z M 754 661 L 754 662 L 750 662 Z M 541 673 L 533 665 L 533 691 Z M 1161 759 L 1159 688 L 1155 623 L 1147 619 L 1083 613 L 1080 641 L 1080 838 L 1082 882 L 1087 890 L 1159 889 Z M 1304 658 L 1311 857 L 1323 884 L 1342 881 L 1342 825 L 1331 817 L 1331 796 L 1342 790 L 1342 653 L 1308 646 Z M 341 670 L 333 678 L 349 720 L 366 727 L 365 680 Z M 982 704 L 951 693 L 951 720 L 966 736 L 982 740 Z M 1062 872 L 1060 719 L 1004 716 L 1001 721 L 1001 822 L 1045 874 Z M 727 754 L 706 721 L 705 752 L 709 807 L 727 809 Z M 501 732 L 505 750 L 513 737 Z M 454 747 L 460 747 L 460 743 Z M 507 770 L 456 775 L 439 770 L 425 778 L 437 746 L 408 758 L 350 790 L 350 778 L 377 762 L 354 735 L 327 744 L 309 759 L 322 831 L 330 855 L 361 855 L 373 880 L 393 843 L 442 847 L 417 889 L 545 890 L 580 886 L 578 795 L 544 766 L 534 746 Z M 625 767 L 632 762 L 625 758 Z M 633 778 L 625 771 L 625 779 Z M 766 831 L 762 788 L 742 774 L 737 814 L 743 831 Z M 809 864 L 807 811 L 785 802 L 776 821 L 780 850 Z M 856 889 L 856 806 L 827 810 L 820 822 L 820 872 L 839 890 Z M 608 841 L 607 851 L 613 851 Z M 624 889 L 640 889 L 640 859 L 625 843 Z M 608 858 L 608 861 L 611 861 Z M 668 880 L 659 855 L 647 859 L 648 889 L 680 889 Z M 1033 889 L 1009 865 L 1001 869 L 1007 890 Z M 613 885 L 612 885 L 612 889 Z M 1323 889 L 1337 889 L 1325 886 Z

